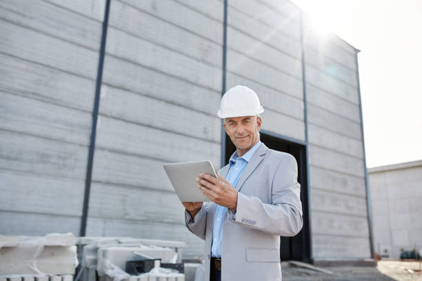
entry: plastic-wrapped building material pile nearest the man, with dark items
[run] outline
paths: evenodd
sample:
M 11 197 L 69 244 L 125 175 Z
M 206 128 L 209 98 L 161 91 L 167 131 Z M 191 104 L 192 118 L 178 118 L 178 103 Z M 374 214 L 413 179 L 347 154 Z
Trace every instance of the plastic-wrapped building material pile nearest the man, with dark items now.
M 161 262 L 175 264 L 181 262 L 185 242 L 168 240 L 148 240 L 137 238 L 79 238 L 77 241 L 81 255 L 81 269 L 75 281 L 141 281 L 166 280 L 183 281 L 185 275 L 174 269 L 160 267 Z M 125 272 L 125 264 L 145 256 L 158 260 L 155 267 L 139 275 Z

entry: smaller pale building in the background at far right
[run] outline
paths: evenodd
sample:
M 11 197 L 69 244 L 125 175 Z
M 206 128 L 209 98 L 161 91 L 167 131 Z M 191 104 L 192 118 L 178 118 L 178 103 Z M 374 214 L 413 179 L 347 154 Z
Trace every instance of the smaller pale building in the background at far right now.
M 422 160 L 368 169 L 374 251 L 399 259 L 422 249 Z

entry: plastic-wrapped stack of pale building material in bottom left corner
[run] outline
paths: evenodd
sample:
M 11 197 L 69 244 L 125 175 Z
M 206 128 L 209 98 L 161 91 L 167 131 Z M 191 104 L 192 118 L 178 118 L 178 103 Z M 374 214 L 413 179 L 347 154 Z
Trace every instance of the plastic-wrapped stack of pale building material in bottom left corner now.
M 0 236 L 0 280 L 72 281 L 78 266 L 72 233 Z

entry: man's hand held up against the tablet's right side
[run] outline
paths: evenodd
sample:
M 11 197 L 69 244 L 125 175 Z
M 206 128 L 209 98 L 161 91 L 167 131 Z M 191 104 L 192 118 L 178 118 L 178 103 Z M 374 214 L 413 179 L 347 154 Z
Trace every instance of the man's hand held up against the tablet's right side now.
M 218 173 L 218 180 L 208 174 L 199 174 L 199 177 L 195 180 L 198 183 L 199 189 L 202 193 L 210 198 L 212 202 L 228 207 L 233 211 L 237 209 L 237 191 L 232 185 L 222 178 Z

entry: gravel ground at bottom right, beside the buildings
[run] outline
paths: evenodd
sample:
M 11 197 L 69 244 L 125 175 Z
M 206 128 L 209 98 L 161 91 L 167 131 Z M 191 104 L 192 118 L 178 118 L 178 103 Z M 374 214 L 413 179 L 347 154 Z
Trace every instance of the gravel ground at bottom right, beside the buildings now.
M 419 262 L 381 260 L 376 267 L 322 267 L 333 271 L 329 275 L 299 267 L 283 267 L 283 281 L 422 281 Z M 412 272 L 409 272 L 411 269 Z

